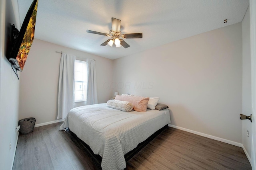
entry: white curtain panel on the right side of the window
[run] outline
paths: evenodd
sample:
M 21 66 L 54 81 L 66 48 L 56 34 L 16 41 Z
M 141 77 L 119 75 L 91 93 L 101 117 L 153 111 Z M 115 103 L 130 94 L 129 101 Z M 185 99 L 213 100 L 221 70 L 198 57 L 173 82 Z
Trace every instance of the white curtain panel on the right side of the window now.
M 86 104 L 98 104 L 95 61 L 94 59 L 86 59 L 86 63 L 88 75 Z

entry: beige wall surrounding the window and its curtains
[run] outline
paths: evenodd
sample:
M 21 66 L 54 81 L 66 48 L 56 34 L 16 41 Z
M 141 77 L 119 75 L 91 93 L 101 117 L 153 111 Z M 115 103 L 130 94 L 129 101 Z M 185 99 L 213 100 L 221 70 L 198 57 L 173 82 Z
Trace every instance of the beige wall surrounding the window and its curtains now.
M 61 54 L 55 51 L 95 59 L 98 102 L 106 103 L 111 98 L 112 90 L 104 89 L 103 85 L 112 80 L 112 60 L 34 39 L 20 73 L 19 119 L 35 117 L 36 124 L 56 120 Z

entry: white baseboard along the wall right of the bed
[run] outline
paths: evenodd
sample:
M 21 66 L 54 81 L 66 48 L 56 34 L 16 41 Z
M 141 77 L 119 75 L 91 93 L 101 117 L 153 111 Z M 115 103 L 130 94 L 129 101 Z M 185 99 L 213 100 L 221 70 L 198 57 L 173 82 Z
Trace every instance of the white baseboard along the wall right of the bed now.
M 210 138 L 210 139 L 214 139 L 216 141 L 220 141 L 220 142 L 224 142 L 224 143 L 228 143 L 230 145 L 234 145 L 234 146 L 237 146 L 237 147 L 244 147 L 242 145 L 242 143 L 238 143 L 238 142 L 234 142 L 234 141 L 230 141 L 230 140 L 227 140 L 227 139 L 223 139 L 223 138 L 220 138 L 220 137 L 215 137 L 215 136 L 212 136 L 212 135 L 207 135 L 205 133 L 201 133 L 201 132 L 197 132 L 197 131 L 192 131 L 190 129 L 186 129 L 186 128 L 183 128 L 183 127 L 178 127 L 178 126 L 175 126 L 175 125 L 171 125 L 171 124 L 168 124 L 169 127 L 173 127 L 175 129 L 180 129 L 182 131 L 186 131 L 186 132 L 190 132 L 190 133 L 194 133 L 196 135 L 200 135 L 200 136 L 203 136 L 203 137 L 207 137 L 207 138 Z M 247 155 L 246 155 L 247 156 Z

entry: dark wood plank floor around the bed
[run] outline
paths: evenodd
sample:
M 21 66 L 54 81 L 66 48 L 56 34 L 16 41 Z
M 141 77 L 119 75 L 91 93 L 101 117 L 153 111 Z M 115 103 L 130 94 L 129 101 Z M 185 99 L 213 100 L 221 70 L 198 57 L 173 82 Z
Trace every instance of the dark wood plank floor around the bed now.
M 20 134 L 13 170 L 97 170 L 62 122 Z M 240 147 L 168 127 L 126 164 L 126 170 L 251 170 Z

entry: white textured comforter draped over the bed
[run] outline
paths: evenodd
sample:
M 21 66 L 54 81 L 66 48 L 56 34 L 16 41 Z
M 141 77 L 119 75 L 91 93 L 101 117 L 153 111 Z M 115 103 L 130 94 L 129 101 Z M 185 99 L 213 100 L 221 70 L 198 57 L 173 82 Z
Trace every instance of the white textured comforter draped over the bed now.
M 168 109 L 124 112 L 106 104 L 71 109 L 61 125 L 75 133 L 102 157 L 103 170 L 124 169 L 124 154 L 170 123 Z

